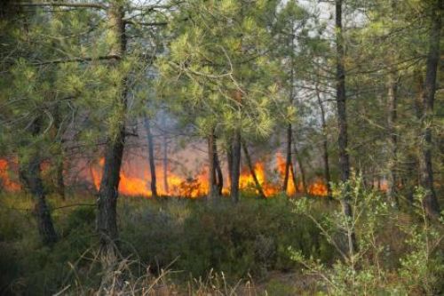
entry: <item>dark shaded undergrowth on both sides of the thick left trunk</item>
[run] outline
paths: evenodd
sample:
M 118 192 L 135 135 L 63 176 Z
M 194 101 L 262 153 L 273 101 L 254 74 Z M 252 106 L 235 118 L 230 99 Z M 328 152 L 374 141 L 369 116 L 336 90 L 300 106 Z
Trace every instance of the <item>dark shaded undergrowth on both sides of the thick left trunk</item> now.
M 0 252 L 6 254 L 0 262 L 1 292 L 45 295 L 68 284 L 73 289 L 74 282 L 99 286 L 99 265 L 91 263 L 99 245 L 93 196 L 68 196 L 66 201 L 50 196 L 59 234 L 52 248 L 39 242 L 29 196 L 3 195 L 0 203 Z M 320 216 L 333 206 L 316 204 Z M 283 196 L 244 197 L 236 205 L 226 198 L 210 203 L 122 197 L 118 217 L 122 260 L 139 262 L 129 264 L 132 278 L 174 270 L 168 277 L 182 287 L 221 275 L 226 286 L 233 286 L 240 278 L 266 280 L 270 270 L 288 272 L 296 266 L 289 245 L 325 261 L 336 256 L 315 225 L 291 212 Z

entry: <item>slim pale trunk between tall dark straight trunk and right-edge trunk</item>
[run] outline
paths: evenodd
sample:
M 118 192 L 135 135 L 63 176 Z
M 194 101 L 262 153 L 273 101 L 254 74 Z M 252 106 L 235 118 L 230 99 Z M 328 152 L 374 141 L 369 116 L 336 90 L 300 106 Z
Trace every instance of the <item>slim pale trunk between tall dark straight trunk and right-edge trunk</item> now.
M 397 81 L 395 73 L 391 72 L 388 75 L 388 101 L 387 101 L 387 129 L 389 132 L 389 149 L 390 156 L 388 161 L 388 175 L 387 175 L 387 199 L 390 203 L 399 205 L 397 196 L 397 175 L 396 175 L 396 154 L 398 152 L 398 134 L 396 132 L 397 120 Z

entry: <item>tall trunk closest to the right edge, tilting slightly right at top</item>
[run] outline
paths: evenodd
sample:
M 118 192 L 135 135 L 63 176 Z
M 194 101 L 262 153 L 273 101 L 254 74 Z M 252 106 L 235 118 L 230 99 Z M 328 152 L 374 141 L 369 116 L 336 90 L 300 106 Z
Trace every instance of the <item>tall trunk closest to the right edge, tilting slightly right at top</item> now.
M 435 0 L 430 13 L 432 15 L 432 25 L 429 36 L 429 52 L 427 54 L 427 68 L 424 81 L 422 130 L 424 144 L 422 145 L 422 156 L 420 161 L 421 168 L 421 186 L 425 189 L 423 206 L 425 211 L 431 217 L 440 215 L 440 204 L 436 197 L 433 187 L 432 170 L 432 121 L 433 121 L 433 103 L 436 92 L 436 76 L 438 64 L 440 61 L 440 30 L 441 30 L 441 12 L 442 1 Z

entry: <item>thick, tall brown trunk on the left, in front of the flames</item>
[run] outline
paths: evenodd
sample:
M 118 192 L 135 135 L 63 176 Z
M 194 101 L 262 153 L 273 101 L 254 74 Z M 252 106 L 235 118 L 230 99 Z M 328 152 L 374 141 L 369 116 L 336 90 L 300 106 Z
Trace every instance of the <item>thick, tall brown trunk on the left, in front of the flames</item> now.
M 116 58 L 111 61 L 110 67 L 117 67 L 125 53 L 125 30 L 123 22 L 123 6 L 118 1 L 112 1 L 107 12 L 108 28 L 115 37 L 110 51 Z M 105 164 L 103 166 L 102 179 L 100 180 L 97 231 L 102 247 L 102 261 L 105 264 L 115 262 L 115 247 L 117 246 L 117 196 L 122 166 L 123 148 L 125 142 L 125 116 L 126 116 L 126 79 L 120 82 L 117 96 L 115 97 L 115 120 L 109 126 L 111 132 L 107 138 L 105 147 Z

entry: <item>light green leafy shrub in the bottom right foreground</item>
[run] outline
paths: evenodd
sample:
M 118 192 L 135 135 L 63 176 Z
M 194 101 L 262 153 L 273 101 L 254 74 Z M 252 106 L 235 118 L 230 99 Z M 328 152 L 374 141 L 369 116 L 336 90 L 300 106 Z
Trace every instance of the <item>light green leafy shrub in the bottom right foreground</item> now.
M 320 276 L 319 288 L 331 295 L 435 295 L 442 292 L 442 221 L 431 223 L 427 219 L 420 205 L 424 193 L 418 191 L 416 194 L 416 206 L 421 209 L 417 217 L 422 220 L 405 223 L 400 213 L 388 211 L 381 196 L 363 188 L 361 178 L 342 186 L 352 189 L 351 218 L 337 210 L 319 220 L 312 216 L 309 201 L 301 199 L 295 203 L 295 212 L 313 220 L 342 257 L 329 267 L 321 260 L 306 257 L 290 248 L 292 259 L 301 264 L 307 274 Z M 337 193 L 343 192 L 338 188 Z M 387 225 L 396 225 L 397 228 L 389 229 Z M 359 248 L 352 254 L 347 252 L 344 241 L 350 231 L 355 234 Z M 393 254 L 391 241 L 383 239 L 385 231 L 391 231 L 389 236 L 397 236 L 398 239 L 402 233 L 407 234 L 404 244 L 408 251 Z M 394 255 L 399 262 L 392 266 L 386 258 Z

